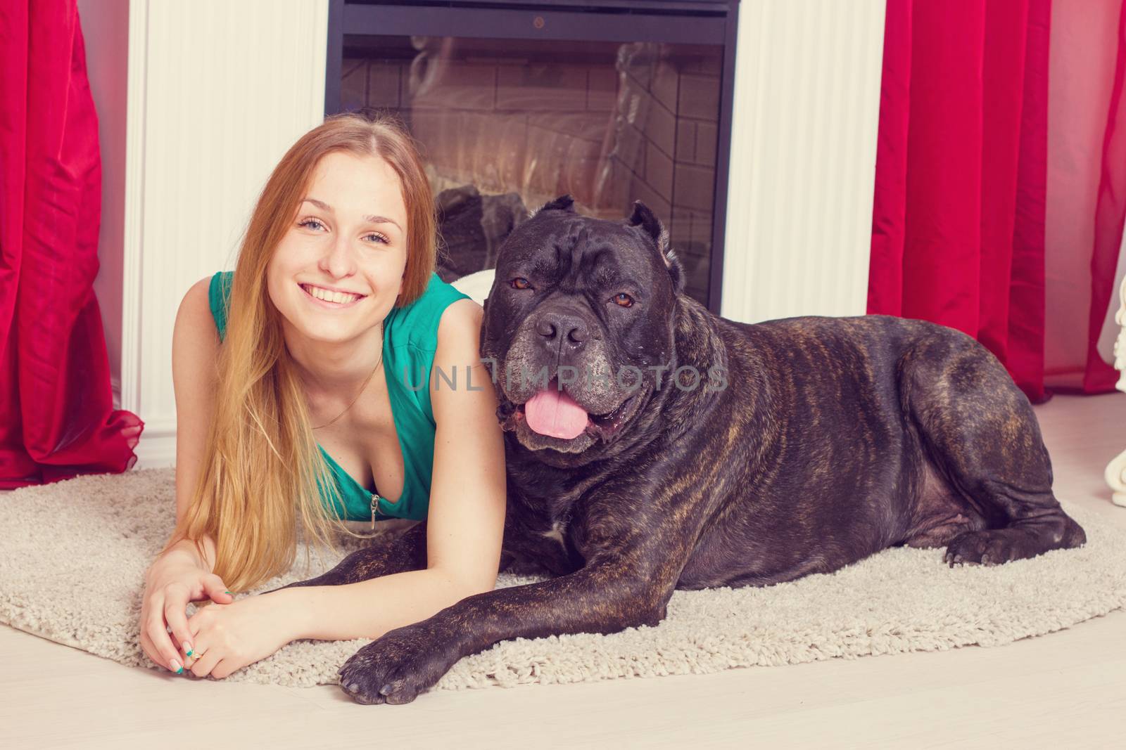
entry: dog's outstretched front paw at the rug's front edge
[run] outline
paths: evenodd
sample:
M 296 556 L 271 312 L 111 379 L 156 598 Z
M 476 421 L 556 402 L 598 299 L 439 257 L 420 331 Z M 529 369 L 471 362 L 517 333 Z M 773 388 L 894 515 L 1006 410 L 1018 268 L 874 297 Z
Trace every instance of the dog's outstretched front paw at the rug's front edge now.
M 340 687 L 365 705 L 410 703 L 462 657 L 453 641 L 425 623 L 390 631 L 349 657 L 338 672 Z

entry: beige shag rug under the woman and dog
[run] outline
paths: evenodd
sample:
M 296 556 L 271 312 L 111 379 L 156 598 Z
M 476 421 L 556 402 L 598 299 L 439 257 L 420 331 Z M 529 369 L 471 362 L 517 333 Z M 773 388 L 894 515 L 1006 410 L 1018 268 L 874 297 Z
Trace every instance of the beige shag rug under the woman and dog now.
M 172 469 L 146 469 L 0 495 L 0 622 L 129 667 L 159 669 L 141 650 L 138 618 L 144 573 L 175 521 L 173 493 Z M 1087 531 L 1081 549 L 951 569 L 941 549 L 897 548 L 831 575 L 766 588 L 676 591 L 656 627 L 506 641 L 458 661 L 435 689 L 704 674 L 1000 645 L 1051 633 L 1126 604 L 1126 531 L 1064 507 Z M 349 551 L 373 543 L 342 539 Z M 311 558 L 306 571 L 298 549 L 294 569 L 254 593 L 338 561 L 315 551 Z M 502 573 L 498 588 L 534 580 Z M 188 614 L 194 611 L 189 605 Z M 368 642 L 294 641 L 225 679 L 337 684 L 337 670 Z

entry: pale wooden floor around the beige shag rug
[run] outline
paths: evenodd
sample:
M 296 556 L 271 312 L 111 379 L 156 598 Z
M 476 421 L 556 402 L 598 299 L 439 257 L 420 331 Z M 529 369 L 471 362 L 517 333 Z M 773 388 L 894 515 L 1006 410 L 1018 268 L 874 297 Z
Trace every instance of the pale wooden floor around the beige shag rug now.
M 1037 407 L 1056 495 L 1126 525 L 1102 470 L 1126 394 Z M 5 532 L 5 533 L 10 533 Z M 717 675 L 439 692 L 360 706 L 336 686 L 189 680 L 0 625 L 0 748 L 1106 748 L 1126 743 L 1126 613 L 997 648 Z

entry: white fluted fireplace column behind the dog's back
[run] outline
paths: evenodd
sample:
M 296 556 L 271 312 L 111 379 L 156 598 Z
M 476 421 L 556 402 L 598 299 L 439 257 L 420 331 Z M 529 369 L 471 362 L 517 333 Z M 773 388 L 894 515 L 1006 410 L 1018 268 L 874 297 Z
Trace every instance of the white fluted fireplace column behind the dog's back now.
M 885 0 L 743 0 L 721 313 L 864 315 Z

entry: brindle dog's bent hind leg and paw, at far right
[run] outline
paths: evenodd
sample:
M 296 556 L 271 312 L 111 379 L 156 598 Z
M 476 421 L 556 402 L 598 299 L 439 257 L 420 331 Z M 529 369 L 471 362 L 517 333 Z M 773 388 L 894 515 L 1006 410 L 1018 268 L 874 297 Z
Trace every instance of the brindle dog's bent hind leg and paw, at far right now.
M 905 355 L 903 373 L 931 460 L 986 521 L 950 540 L 949 564 L 1000 564 L 1087 541 L 1052 494 L 1031 405 L 989 350 L 962 334 L 936 337 Z

